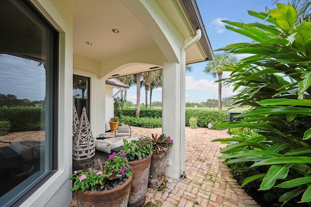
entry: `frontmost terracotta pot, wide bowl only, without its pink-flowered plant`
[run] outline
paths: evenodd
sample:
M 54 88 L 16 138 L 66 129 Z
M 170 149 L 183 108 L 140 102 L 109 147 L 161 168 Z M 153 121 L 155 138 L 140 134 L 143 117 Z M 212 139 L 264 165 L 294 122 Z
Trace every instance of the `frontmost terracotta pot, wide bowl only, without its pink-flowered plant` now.
M 132 177 L 117 188 L 108 191 L 76 191 L 78 207 L 126 207 Z

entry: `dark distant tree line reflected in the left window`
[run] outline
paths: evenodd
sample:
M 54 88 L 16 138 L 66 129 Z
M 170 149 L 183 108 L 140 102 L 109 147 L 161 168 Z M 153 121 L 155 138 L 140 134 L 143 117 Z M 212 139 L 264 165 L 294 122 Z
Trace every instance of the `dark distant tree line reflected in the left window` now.
M 18 99 L 17 96 L 12 94 L 0 94 L 0 108 L 4 106 L 10 109 L 10 107 L 32 107 L 35 104 L 43 104 L 44 100 L 31 101 L 27 98 Z

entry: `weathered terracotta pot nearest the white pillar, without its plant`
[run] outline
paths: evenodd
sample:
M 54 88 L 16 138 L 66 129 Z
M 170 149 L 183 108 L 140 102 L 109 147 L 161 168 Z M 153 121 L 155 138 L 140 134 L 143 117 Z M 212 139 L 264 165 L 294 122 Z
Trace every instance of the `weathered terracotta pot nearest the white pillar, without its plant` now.
M 154 151 L 151 157 L 150 173 L 148 185 L 151 188 L 158 188 L 163 184 L 166 160 L 168 151 L 160 151 L 157 153 Z

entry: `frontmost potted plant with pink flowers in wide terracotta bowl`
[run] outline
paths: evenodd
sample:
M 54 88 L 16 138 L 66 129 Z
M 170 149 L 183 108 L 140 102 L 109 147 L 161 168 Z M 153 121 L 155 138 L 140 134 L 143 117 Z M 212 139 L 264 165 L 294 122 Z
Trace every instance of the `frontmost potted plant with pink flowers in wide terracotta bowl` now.
M 118 206 L 128 203 L 133 167 L 125 153 L 113 153 L 104 166 L 73 172 L 71 191 L 76 191 L 79 207 Z

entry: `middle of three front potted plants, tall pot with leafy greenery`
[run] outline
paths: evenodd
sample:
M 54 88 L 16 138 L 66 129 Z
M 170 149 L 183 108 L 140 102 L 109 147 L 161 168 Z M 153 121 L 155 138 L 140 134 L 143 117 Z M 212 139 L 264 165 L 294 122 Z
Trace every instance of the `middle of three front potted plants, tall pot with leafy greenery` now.
M 123 139 L 123 153 L 126 153 L 129 164 L 133 166 L 133 178 L 128 201 L 128 207 L 140 207 L 144 203 L 144 197 L 148 188 L 153 144 L 148 137 L 141 137 L 138 141 L 128 142 Z

